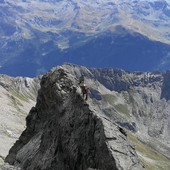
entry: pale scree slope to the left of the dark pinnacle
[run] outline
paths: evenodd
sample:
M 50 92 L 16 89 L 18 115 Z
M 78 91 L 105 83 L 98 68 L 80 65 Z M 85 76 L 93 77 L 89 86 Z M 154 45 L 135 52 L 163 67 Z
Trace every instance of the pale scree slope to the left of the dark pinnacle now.
M 0 164 L 25 128 L 25 117 L 35 105 L 40 78 L 0 75 Z

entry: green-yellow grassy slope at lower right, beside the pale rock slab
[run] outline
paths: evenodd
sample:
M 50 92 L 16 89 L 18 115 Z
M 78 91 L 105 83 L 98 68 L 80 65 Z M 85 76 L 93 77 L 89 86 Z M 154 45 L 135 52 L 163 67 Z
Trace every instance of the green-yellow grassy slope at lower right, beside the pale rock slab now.
M 128 134 L 128 138 L 135 145 L 136 151 L 139 153 L 139 158 L 145 165 L 146 170 L 170 169 L 170 160 L 164 155 L 147 146 L 131 133 Z

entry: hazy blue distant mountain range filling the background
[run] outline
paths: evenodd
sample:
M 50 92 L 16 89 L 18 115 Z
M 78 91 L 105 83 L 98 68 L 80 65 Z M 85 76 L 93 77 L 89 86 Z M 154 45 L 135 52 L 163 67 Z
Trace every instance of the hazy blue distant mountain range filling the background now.
M 1 0 L 0 8 L 1 73 L 34 77 L 63 62 L 169 69 L 169 0 Z

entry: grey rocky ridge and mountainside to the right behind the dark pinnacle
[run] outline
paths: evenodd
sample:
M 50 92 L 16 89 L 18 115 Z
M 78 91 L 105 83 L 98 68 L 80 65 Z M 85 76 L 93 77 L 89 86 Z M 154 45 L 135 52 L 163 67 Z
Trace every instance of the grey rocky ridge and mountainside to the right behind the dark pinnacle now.
M 145 164 L 154 167 L 150 169 L 170 168 L 170 100 L 165 98 L 165 93 L 169 94 L 168 71 L 166 74 L 158 71 L 126 72 L 121 69 L 87 69 L 72 64 L 64 67 L 75 77 L 84 75 L 95 106 L 118 125 L 133 132 L 138 138 L 135 140 L 137 153 Z M 141 141 L 154 151 L 143 148 Z M 157 156 L 151 156 L 155 151 Z M 159 153 L 169 158 L 163 157 L 166 165 L 158 161 L 162 159 Z

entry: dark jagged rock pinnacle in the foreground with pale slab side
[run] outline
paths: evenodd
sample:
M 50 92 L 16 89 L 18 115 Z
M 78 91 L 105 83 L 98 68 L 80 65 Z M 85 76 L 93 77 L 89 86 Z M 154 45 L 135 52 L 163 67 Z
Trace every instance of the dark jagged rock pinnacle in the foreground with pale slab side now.
M 69 72 L 58 67 L 43 76 L 27 128 L 5 161 L 24 170 L 144 169 L 126 132 L 82 99 Z

